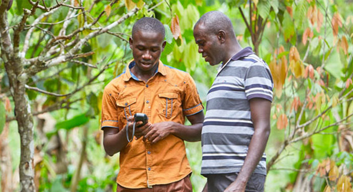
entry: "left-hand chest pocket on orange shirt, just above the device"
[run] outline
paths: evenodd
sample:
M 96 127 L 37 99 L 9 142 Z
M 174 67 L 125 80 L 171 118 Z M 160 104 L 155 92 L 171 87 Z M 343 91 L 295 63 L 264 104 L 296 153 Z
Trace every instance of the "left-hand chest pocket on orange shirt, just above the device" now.
M 116 102 L 118 106 L 118 115 L 119 119 L 123 120 L 124 123 L 126 122 L 126 119 L 129 116 L 132 116 L 135 114 L 135 108 L 136 108 L 136 98 L 124 98 L 120 99 Z

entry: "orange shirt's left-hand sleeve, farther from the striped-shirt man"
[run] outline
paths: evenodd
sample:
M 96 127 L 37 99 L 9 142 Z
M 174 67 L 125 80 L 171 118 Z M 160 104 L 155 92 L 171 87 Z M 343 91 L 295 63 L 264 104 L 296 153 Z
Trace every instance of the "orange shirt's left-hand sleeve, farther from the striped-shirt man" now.
M 104 127 L 118 128 L 118 112 L 115 99 L 109 89 L 105 88 L 102 97 L 101 129 Z

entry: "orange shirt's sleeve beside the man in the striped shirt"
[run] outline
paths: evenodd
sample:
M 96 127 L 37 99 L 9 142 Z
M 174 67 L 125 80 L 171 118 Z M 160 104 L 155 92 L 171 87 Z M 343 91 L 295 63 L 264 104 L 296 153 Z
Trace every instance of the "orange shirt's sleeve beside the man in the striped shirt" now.
M 188 74 L 185 80 L 185 97 L 183 101 L 183 113 L 186 116 L 203 111 L 204 106 L 198 95 L 195 82 Z

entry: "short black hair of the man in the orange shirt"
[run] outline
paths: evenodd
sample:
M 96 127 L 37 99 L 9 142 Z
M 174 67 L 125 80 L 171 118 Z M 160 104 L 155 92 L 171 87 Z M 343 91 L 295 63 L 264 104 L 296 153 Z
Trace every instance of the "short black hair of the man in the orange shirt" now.
M 162 22 L 153 17 L 142 17 L 136 21 L 131 35 L 134 37 L 134 34 L 138 31 L 157 32 L 163 35 L 163 38 L 165 36 L 165 29 Z

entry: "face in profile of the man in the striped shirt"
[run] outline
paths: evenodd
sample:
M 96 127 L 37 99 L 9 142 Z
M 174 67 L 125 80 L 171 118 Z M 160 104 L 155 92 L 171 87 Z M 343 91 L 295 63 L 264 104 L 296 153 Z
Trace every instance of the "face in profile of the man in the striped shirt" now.
M 194 28 L 194 38 L 198 45 L 198 53 L 202 54 L 206 62 L 216 65 L 222 61 L 222 49 L 216 34 L 211 34 L 202 23 Z

